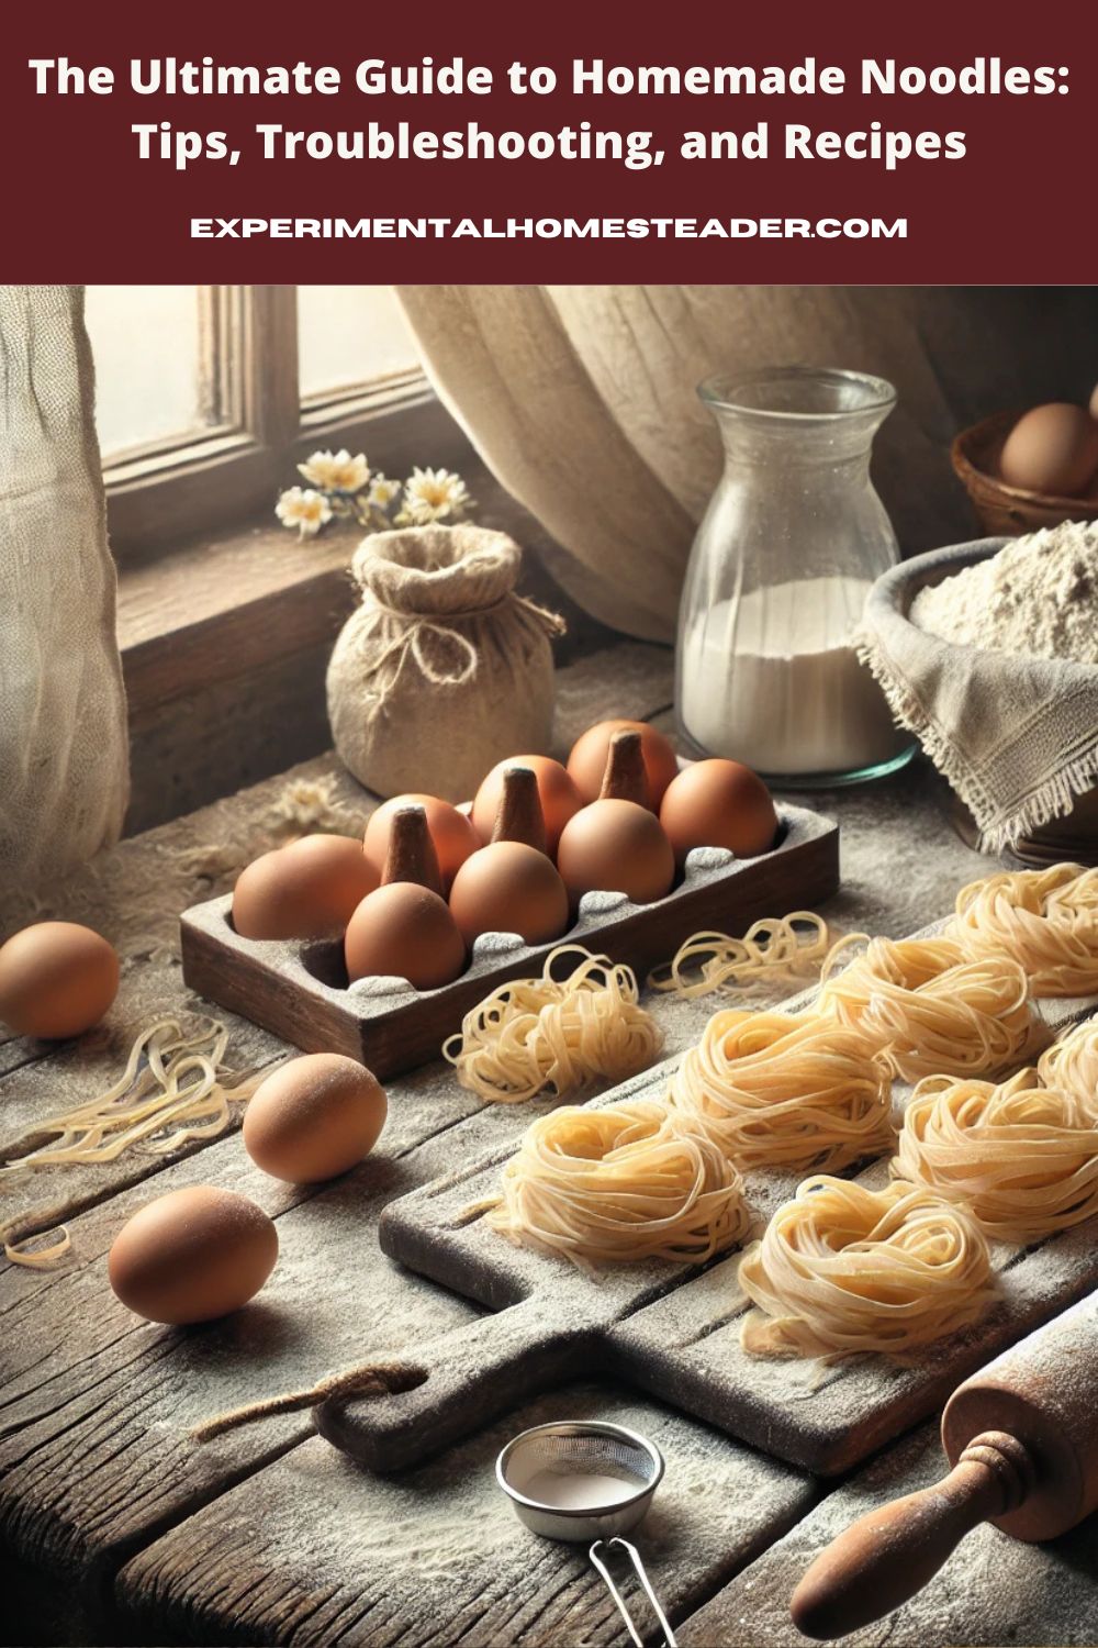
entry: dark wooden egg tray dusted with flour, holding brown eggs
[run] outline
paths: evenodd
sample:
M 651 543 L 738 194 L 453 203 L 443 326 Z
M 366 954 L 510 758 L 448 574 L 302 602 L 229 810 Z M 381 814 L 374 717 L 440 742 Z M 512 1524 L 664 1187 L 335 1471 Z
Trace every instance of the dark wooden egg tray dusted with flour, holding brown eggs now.
M 377 1076 L 438 1058 L 464 1015 L 505 979 L 533 976 L 558 946 L 578 943 L 644 974 L 700 929 L 742 933 L 761 916 L 812 908 L 840 882 L 838 824 L 807 808 L 779 809 L 779 840 L 757 859 L 700 847 L 683 878 L 652 905 L 586 893 L 576 925 L 551 944 L 486 933 L 453 984 L 413 990 L 405 979 L 347 984 L 341 943 L 240 938 L 232 895 L 181 918 L 183 977 L 199 995 L 242 1014 L 306 1053 L 346 1053 Z

